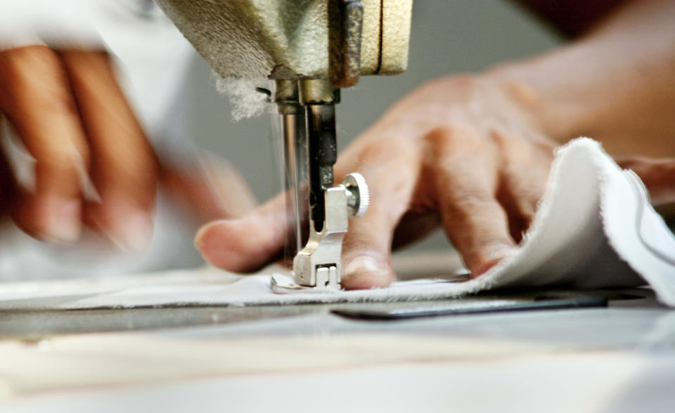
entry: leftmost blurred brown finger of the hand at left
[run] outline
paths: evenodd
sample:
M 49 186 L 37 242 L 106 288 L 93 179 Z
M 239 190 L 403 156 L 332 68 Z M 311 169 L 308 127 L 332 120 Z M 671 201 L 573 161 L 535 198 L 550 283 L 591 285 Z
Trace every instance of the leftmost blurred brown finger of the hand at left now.
M 45 240 L 77 240 L 89 152 L 58 55 L 45 46 L 1 52 L 0 110 L 37 161 L 34 187 L 22 188 L 15 207 L 17 225 Z

